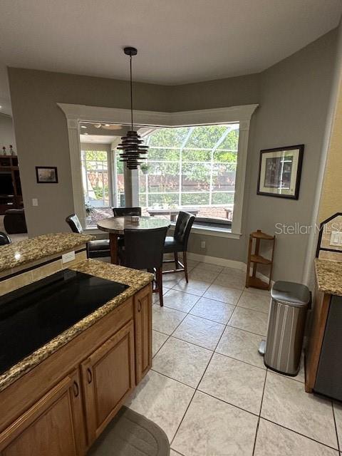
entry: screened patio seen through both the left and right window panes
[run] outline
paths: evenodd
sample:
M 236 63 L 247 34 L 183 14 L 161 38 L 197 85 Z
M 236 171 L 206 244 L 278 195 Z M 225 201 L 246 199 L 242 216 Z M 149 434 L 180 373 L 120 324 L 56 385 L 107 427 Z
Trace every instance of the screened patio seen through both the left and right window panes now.
M 230 227 L 234 212 L 239 123 L 149 128 L 147 160 L 138 170 L 136 197 L 146 215 L 177 219 L 180 210 L 197 222 Z M 87 225 L 125 205 L 123 163 L 118 150 L 82 151 Z

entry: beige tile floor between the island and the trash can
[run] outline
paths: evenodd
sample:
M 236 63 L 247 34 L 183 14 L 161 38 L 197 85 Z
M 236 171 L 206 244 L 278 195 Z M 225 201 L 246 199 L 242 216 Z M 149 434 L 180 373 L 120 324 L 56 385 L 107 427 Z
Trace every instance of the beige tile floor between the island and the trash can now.
M 269 293 L 189 262 L 189 284 L 165 276 L 164 308 L 153 296 L 153 366 L 128 406 L 165 430 L 171 456 L 341 455 L 342 406 L 305 393 L 303 368 L 289 378 L 259 356 Z

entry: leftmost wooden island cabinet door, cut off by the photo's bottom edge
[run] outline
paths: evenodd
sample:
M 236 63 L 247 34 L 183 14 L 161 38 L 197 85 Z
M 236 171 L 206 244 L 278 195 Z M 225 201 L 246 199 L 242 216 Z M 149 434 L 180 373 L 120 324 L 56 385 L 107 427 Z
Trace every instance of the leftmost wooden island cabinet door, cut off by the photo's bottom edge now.
M 78 371 L 0 434 L 1 456 L 81 456 L 85 430 Z

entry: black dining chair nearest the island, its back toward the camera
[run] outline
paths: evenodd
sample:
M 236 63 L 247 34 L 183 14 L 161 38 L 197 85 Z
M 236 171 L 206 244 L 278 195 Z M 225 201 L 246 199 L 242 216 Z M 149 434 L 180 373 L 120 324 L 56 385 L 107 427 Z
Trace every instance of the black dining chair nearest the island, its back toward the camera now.
M 162 251 L 167 227 L 154 229 L 125 229 L 125 246 L 119 246 L 120 264 L 132 269 L 147 269 L 155 273 L 156 287 L 162 300 Z

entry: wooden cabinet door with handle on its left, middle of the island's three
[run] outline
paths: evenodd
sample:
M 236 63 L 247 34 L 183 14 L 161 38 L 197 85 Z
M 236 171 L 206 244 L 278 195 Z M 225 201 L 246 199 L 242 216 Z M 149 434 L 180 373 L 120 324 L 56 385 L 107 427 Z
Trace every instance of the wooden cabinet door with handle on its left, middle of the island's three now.
M 94 351 L 81 371 L 90 445 L 135 387 L 133 321 Z

